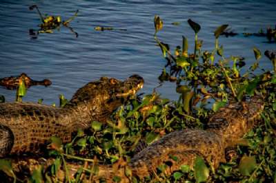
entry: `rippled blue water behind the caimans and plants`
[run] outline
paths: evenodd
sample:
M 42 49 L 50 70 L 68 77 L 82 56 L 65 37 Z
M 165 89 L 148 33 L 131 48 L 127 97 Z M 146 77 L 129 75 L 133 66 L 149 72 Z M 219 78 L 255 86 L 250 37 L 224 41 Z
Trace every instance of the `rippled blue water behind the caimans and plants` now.
M 29 29 L 37 28 L 40 20 L 36 11 L 28 10 L 37 4 L 43 14 L 60 15 L 68 19 L 79 10 L 79 16 L 70 23 L 79 37 L 68 28 L 54 34 L 39 34 L 30 39 Z M 157 87 L 157 77 L 166 61 L 153 39 L 153 17 L 164 20 L 159 39 L 171 45 L 181 45 L 181 36 L 190 40 L 193 49 L 193 30 L 186 21 L 193 19 L 201 25 L 199 39 L 204 50 L 212 50 L 213 31 L 221 24 L 229 24 L 235 32 L 258 32 L 260 28 L 276 23 L 276 1 L 0 1 L 0 78 L 26 72 L 31 78 L 52 80 L 50 87 L 31 87 L 23 100 L 59 103 L 59 94 L 70 98 L 81 86 L 100 76 L 119 79 L 140 74 L 146 80 L 141 92 L 150 93 Z M 179 26 L 172 22 L 179 21 Z M 126 28 L 127 31 L 97 32 L 95 26 Z M 225 38 L 219 43 L 226 55 L 242 55 L 246 63 L 254 61 L 253 47 L 262 52 L 275 49 L 264 37 L 244 38 L 242 35 Z M 262 58 L 262 67 L 272 69 L 270 61 Z M 158 92 L 176 100 L 175 83 L 166 83 Z M 8 101 L 15 92 L 0 88 Z

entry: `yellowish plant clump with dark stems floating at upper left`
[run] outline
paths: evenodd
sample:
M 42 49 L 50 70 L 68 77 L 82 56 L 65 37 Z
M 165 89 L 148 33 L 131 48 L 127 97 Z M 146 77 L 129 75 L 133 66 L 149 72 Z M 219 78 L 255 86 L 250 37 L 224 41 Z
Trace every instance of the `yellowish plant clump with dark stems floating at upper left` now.
M 41 12 L 39 11 L 39 8 L 36 5 L 30 6 L 29 10 L 34 10 L 34 8 L 37 10 L 39 14 L 41 24 L 39 24 L 39 27 L 40 27 L 39 30 L 34 30 L 34 29 L 29 30 L 29 34 L 32 39 L 37 39 L 37 36 L 39 35 L 39 33 L 53 33 L 54 30 L 59 30 L 61 28 L 61 25 L 63 25 L 63 27 L 68 28 L 73 34 L 75 34 L 76 37 L 79 36 L 77 32 L 75 32 L 73 28 L 69 26 L 70 22 L 74 20 L 75 17 L 77 17 L 77 13 L 79 12 L 79 10 L 77 10 L 75 14 L 72 17 L 70 17 L 70 19 L 66 21 L 61 21 L 60 16 L 55 17 L 50 15 L 50 16 L 43 17 Z

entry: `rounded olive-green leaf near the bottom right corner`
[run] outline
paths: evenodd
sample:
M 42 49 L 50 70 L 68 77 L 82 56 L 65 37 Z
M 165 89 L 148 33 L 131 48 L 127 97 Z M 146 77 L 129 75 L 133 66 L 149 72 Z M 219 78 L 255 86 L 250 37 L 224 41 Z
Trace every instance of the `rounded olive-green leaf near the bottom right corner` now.
M 239 172 L 242 175 L 250 176 L 251 173 L 257 168 L 255 156 L 244 155 L 239 162 Z

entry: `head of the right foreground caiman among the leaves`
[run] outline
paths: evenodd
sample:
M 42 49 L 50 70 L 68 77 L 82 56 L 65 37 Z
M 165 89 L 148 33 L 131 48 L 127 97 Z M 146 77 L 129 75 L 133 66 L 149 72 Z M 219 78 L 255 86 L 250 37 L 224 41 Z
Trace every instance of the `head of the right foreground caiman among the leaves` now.
M 258 95 L 246 102 L 221 107 L 210 118 L 206 130 L 219 133 L 227 147 L 253 128 L 263 109 L 263 98 Z

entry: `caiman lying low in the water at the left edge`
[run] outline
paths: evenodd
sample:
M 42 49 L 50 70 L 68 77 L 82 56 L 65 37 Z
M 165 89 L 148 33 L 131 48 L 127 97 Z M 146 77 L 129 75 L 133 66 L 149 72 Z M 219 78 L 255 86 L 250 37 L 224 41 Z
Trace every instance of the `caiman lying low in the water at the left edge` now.
M 6 87 L 6 89 L 17 89 L 19 87 L 19 81 L 23 80 L 26 87 L 31 87 L 34 85 L 44 85 L 48 87 L 52 84 L 49 79 L 43 80 L 32 80 L 27 74 L 22 73 L 20 76 L 10 76 L 5 78 L 0 78 L 0 86 Z

